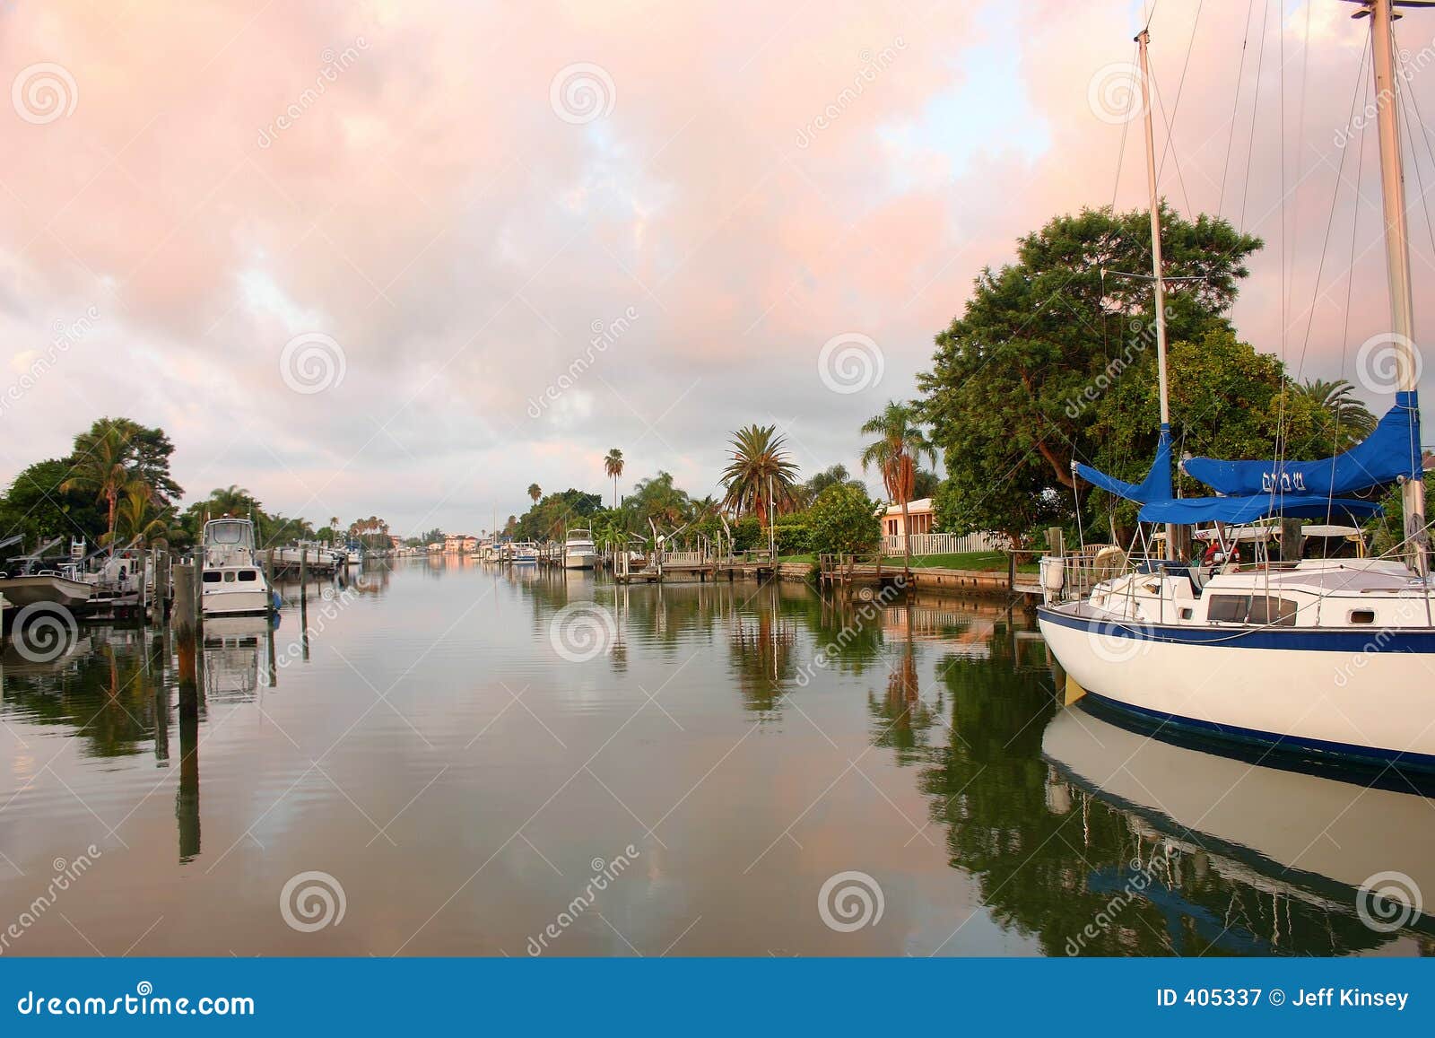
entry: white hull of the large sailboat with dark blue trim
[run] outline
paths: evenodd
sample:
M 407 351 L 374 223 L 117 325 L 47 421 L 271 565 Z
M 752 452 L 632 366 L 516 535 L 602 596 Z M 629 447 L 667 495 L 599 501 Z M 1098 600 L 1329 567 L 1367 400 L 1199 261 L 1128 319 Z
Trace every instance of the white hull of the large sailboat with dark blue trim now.
M 1432 629 L 1376 642 L 1375 630 L 1132 626 L 1081 606 L 1043 607 L 1038 617 L 1052 655 L 1083 691 L 1149 719 L 1435 768 Z

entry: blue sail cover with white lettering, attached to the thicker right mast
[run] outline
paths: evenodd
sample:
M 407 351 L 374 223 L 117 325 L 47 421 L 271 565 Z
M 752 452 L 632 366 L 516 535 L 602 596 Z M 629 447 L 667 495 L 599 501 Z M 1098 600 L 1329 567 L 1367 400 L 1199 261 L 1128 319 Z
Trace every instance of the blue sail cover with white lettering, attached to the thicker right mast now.
M 1402 477 L 1411 480 L 1421 475 L 1419 403 L 1413 392 L 1396 393 L 1395 406 L 1380 418 L 1375 431 L 1333 458 L 1322 461 L 1187 458 L 1181 468 L 1217 494 L 1294 494 L 1312 498 L 1359 494 L 1392 484 Z

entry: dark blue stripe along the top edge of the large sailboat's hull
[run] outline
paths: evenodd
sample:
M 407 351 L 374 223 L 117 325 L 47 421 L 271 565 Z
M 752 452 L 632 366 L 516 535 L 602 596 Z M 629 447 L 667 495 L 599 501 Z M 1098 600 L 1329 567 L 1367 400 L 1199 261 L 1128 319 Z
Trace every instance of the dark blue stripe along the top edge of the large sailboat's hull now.
M 1165 642 L 1170 645 L 1220 645 L 1225 649 L 1284 649 L 1303 652 L 1413 652 L 1435 656 L 1435 629 L 1396 632 L 1389 627 L 1332 629 L 1322 627 L 1257 627 L 1243 630 L 1230 627 L 1181 627 L 1162 625 L 1135 625 L 1121 620 L 1098 620 L 1088 616 L 1066 613 L 1039 606 L 1040 619 L 1072 630 L 1085 630 L 1104 637 L 1131 637 L 1139 642 Z

